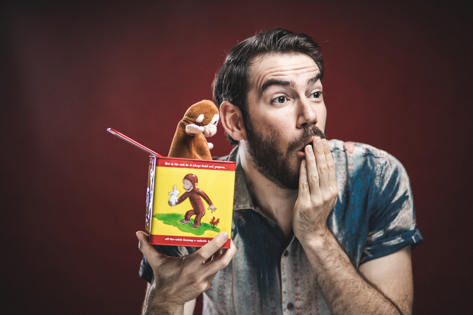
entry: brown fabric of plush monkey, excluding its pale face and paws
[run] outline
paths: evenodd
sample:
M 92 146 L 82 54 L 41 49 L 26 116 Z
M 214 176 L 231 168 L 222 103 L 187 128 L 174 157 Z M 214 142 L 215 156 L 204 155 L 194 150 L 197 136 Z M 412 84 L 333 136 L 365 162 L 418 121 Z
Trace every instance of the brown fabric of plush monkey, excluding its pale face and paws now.
M 196 122 L 195 120 L 200 114 L 204 115 L 204 119 L 201 122 Z M 215 114 L 219 114 L 219 109 L 209 100 L 203 100 L 189 107 L 184 118 L 177 125 L 168 157 L 211 160 L 212 156 L 205 136 L 202 133 L 191 136 L 185 132 L 185 126 L 191 123 L 199 126 L 208 125 Z

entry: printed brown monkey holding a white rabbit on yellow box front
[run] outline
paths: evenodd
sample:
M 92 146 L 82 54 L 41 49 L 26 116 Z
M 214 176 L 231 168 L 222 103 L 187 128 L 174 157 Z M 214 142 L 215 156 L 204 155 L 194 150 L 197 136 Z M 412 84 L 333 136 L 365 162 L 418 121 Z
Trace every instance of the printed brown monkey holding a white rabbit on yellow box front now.
M 191 205 L 193 209 L 187 211 L 185 213 L 184 220 L 179 221 L 179 223 L 192 224 L 190 219 L 195 214 L 196 217 L 194 219 L 194 224 L 192 225 L 192 227 L 198 228 L 201 226 L 201 218 L 205 214 L 205 207 L 201 200 L 201 197 L 209 204 L 209 208 L 207 208 L 208 210 L 211 210 L 211 212 L 213 212 L 213 211 L 216 211 L 217 208 L 215 208 L 212 201 L 210 201 L 210 198 L 204 192 L 202 192 L 199 188 L 196 187 L 197 186 L 196 175 L 194 174 L 185 175 L 184 179 L 182 180 L 182 183 L 185 189 L 185 193 L 177 199 L 177 202 L 174 203 L 174 201 L 169 200 L 168 204 L 174 207 L 175 205 L 178 205 L 179 203 L 183 202 L 189 197 L 189 201 L 191 201 Z

